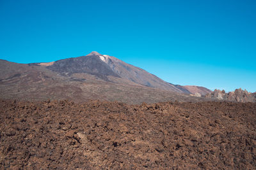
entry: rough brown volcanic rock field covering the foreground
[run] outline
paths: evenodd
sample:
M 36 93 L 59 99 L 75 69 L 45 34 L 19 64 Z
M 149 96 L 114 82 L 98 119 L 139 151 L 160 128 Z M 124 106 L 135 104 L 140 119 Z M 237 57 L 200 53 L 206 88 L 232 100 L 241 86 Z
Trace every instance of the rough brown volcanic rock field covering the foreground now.
M 255 103 L 0 101 L 0 169 L 255 169 Z

